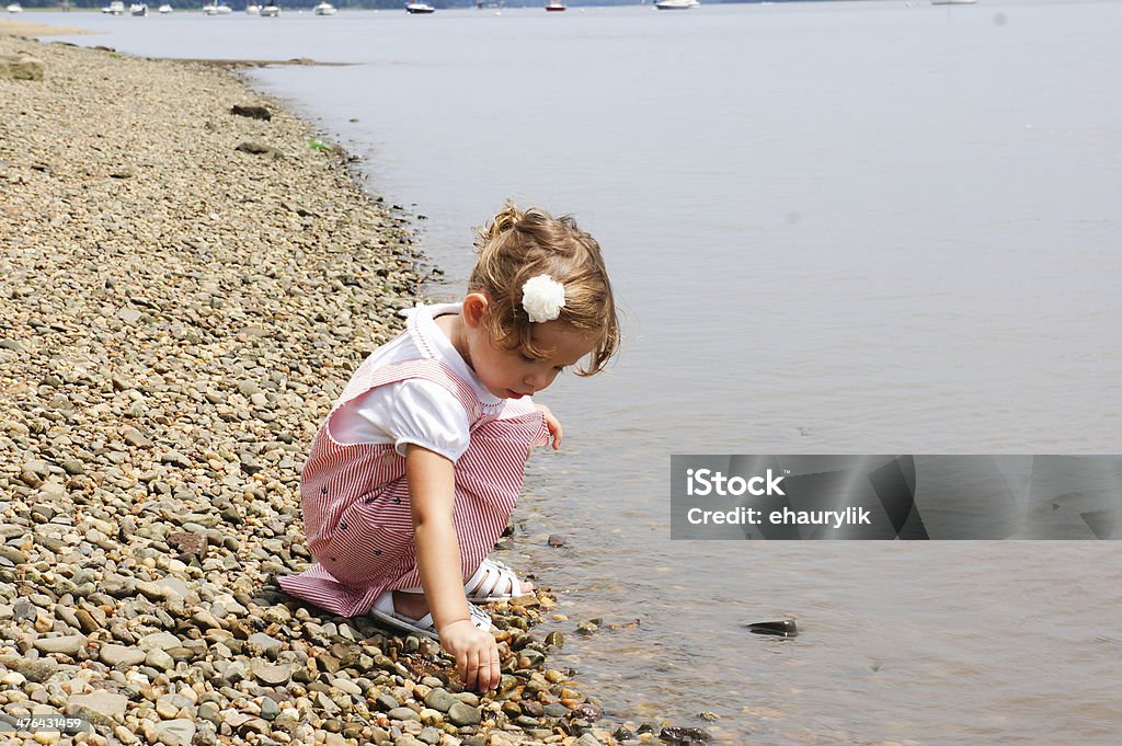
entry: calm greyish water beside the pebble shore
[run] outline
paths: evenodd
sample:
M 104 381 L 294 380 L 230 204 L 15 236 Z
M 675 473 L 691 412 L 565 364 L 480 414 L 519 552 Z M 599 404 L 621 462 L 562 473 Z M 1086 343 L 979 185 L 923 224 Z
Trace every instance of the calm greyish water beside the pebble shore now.
M 139 54 L 352 63 L 251 75 L 426 215 L 438 294 L 506 196 L 601 241 L 624 352 L 542 397 L 567 442 L 532 464 L 513 560 L 560 591 L 557 660 L 609 716 L 1115 742 L 1112 545 L 671 542 L 666 475 L 675 452 L 1118 452 L 1122 4 L 64 20 Z M 743 628 L 782 616 L 802 635 Z M 618 628 L 572 634 L 591 617 Z

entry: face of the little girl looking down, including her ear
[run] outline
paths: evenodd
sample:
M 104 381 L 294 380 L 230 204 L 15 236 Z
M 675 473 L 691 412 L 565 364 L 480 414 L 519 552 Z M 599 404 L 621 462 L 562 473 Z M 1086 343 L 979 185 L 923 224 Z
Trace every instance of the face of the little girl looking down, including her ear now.
M 481 296 L 479 296 L 481 297 Z M 533 396 L 553 383 L 564 368 L 576 365 L 596 348 L 597 338 L 577 330 L 564 321 L 534 324 L 534 344 L 546 350 L 544 359 L 534 359 L 525 350 L 504 350 L 496 346 L 482 325 L 479 308 L 465 301 L 463 322 L 467 326 L 468 365 L 479 376 L 487 390 L 504 399 Z M 486 313 L 485 307 L 481 310 Z

